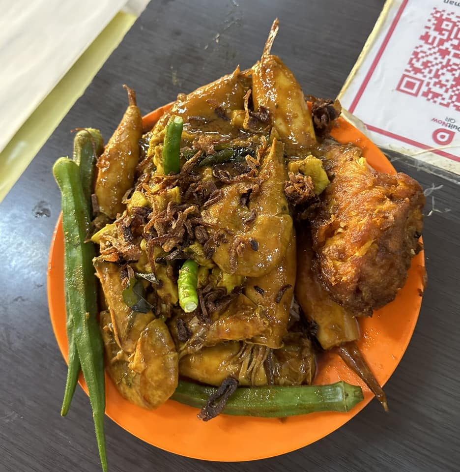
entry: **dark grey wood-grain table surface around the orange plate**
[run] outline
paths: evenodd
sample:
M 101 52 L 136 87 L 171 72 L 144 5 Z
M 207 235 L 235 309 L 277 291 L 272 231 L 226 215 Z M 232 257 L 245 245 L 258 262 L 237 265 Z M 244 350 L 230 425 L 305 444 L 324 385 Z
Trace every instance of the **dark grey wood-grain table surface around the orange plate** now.
M 126 105 L 125 82 L 137 90 L 146 113 L 237 63 L 251 66 L 276 16 L 281 29 L 274 53 L 306 93 L 335 97 L 382 6 L 381 0 L 150 3 L 0 205 L 0 471 L 100 470 L 91 411 L 80 388 L 68 417 L 59 415 L 66 365 L 46 297 L 48 252 L 60 211 L 51 167 L 71 153 L 70 130 L 94 126 L 110 136 Z M 412 341 L 385 387 L 391 412 L 374 400 L 321 441 L 239 464 L 170 454 L 107 418 L 111 471 L 459 470 L 460 189 L 456 176 L 435 175 L 402 156 L 393 160 L 398 170 L 435 190 L 425 209 L 429 284 Z

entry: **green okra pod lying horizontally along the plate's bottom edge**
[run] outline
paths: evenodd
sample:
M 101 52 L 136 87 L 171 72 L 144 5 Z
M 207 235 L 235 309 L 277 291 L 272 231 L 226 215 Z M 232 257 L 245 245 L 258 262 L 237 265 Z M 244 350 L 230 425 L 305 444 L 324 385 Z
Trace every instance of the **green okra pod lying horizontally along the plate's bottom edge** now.
M 202 408 L 216 391 L 216 387 L 179 381 L 171 398 Z M 223 413 L 278 418 L 326 411 L 349 412 L 363 399 L 360 386 L 344 381 L 330 385 L 240 387 L 227 401 Z

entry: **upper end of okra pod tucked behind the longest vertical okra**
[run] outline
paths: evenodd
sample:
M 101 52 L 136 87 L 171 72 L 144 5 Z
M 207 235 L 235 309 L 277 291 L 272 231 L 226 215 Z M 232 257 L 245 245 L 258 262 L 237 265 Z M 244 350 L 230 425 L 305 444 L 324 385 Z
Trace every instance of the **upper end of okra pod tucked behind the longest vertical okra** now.
M 80 180 L 91 214 L 91 195 L 94 193 L 96 159 L 104 151 L 101 132 L 94 128 L 80 130 L 74 139 L 73 158 L 80 167 Z

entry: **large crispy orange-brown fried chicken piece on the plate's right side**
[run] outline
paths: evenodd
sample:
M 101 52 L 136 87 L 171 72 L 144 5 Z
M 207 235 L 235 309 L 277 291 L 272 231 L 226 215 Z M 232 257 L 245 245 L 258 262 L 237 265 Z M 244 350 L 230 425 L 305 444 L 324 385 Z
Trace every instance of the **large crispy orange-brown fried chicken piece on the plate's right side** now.
M 331 297 L 357 315 L 392 301 L 419 250 L 423 189 L 372 169 L 352 145 L 322 148 L 331 180 L 311 221 L 316 270 Z

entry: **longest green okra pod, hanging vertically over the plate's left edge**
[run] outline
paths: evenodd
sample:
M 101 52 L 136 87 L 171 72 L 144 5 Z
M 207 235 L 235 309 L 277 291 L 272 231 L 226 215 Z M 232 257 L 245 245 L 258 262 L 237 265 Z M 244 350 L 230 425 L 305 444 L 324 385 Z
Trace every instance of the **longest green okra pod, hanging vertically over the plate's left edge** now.
M 101 465 L 103 471 L 107 471 L 104 348 L 96 318 L 97 291 L 92 266 L 94 246 L 91 242 L 84 242 L 89 227 L 89 213 L 78 165 L 67 157 L 61 157 L 53 166 L 53 174 L 62 193 L 67 308 L 88 386 Z

